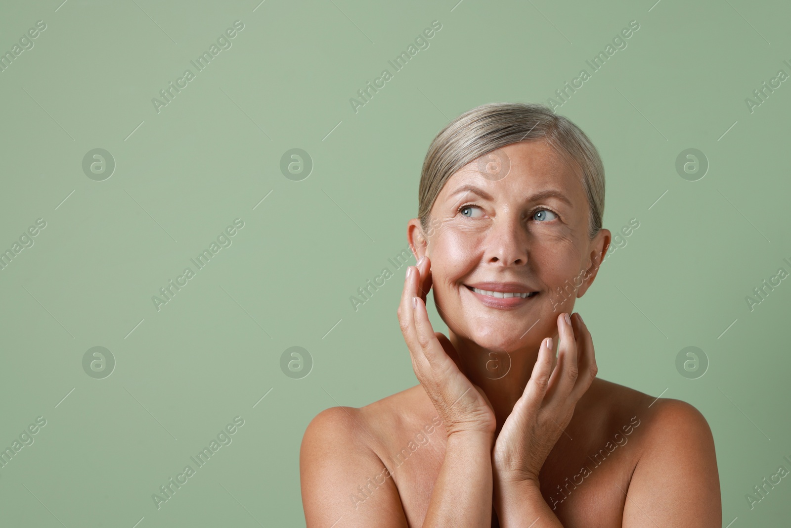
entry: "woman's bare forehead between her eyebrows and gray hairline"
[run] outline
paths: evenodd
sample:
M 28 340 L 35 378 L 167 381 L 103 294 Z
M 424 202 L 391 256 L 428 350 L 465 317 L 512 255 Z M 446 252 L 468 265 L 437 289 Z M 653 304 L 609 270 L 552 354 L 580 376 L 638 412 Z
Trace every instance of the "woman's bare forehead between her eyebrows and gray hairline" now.
M 438 198 L 463 196 L 456 189 L 475 184 L 495 199 L 527 196 L 546 189 L 561 191 L 575 205 L 585 199 L 577 170 L 546 141 L 512 143 L 490 154 L 494 155 L 486 154 L 456 171 Z

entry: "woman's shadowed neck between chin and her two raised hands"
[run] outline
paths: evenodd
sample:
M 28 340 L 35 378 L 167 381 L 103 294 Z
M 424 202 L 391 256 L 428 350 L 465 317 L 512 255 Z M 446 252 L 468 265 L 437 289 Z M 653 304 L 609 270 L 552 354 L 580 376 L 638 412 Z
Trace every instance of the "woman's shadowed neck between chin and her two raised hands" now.
M 504 351 L 484 348 L 452 331 L 448 333 L 448 339 L 459 352 L 462 373 L 489 398 L 497 418 L 496 436 L 528 385 L 541 342 Z M 552 344 L 557 352 L 557 335 L 552 337 Z

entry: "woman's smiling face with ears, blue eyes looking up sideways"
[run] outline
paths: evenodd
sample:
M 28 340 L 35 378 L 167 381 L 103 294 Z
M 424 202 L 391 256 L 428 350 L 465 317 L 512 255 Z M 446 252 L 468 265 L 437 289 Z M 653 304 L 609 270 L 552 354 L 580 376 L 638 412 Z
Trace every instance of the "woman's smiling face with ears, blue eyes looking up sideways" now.
M 589 241 L 588 218 L 574 169 L 547 142 L 519 142 L 448 178 L 428 231 L 415 218 L 408 236 L 418 257 L 431 260 L 434 302 L 448 328 L 512 351 L 557 335 L 558 315 L 571 313 L 592 283 L 610 232 Z

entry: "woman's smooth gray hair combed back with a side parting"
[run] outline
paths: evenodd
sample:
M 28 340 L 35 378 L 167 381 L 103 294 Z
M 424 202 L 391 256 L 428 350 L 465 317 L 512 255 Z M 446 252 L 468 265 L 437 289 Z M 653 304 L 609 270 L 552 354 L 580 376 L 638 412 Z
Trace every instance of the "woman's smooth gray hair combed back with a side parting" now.
M 429 213 L 445 182 L 470 161 L 502 146 L 544 140 L 581 173 L 590 209 L 588 237 L 602 227 L 604 165 L 585 132 L 543 104 L 490 103 L 456 117 L 431 142 L 418 190 L 418 218 L 428 230 Z

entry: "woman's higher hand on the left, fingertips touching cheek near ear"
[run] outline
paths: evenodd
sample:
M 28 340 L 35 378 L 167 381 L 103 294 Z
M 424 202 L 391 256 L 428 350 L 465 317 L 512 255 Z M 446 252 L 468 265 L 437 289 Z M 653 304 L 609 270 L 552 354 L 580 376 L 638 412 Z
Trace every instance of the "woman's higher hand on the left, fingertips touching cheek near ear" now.
M 398 309 L 403 339 L 418 381 L 437 409 L 448 437 L 460 432 L 486 433 L 494 439 L 497 420 L 489 399 L 462 374 L 460 359 L 450 340 L 434 332 L 426 311 L 431 289 L 431 261 L 424 256 L 407 268 Z

